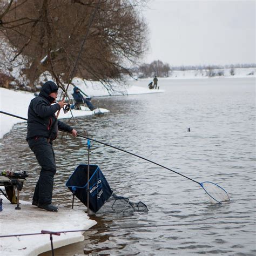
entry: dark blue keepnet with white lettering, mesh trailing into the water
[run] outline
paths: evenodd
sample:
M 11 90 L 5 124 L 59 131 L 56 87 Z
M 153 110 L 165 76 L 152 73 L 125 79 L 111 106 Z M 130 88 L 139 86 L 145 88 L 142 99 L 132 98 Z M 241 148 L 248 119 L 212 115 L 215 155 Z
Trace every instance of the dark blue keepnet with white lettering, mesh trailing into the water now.
M 89 169 L 89 184 L 87 172 Z M 135 211 L 147 212 L 147 206 L 139 201 L 133 203 L 127 197 L 117 196 L 107 182 L 98 165 L 80 164 L 66 182 L 66 186 L 87 207 L 89 196 L 89 208 L 92 212 L 117 212 L 131 213 Z M 87 187 L 89 186 L 89 190 Z M 73 205 L 73 203 L 72 203 Z M 72 206 L 73 207 L 73 206 Z

